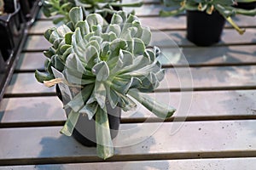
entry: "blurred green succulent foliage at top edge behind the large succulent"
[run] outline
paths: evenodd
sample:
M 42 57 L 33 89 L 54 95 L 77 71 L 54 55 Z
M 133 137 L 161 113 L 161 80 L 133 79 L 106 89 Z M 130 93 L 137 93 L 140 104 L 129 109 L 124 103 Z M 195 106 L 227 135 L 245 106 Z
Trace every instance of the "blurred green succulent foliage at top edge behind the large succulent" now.
M 46 17 L 58 15 L 54 23 L 70 21 L 68 12 L 73 7 L 82 7 L 84 15 L 98 13 L 103 18 L 116 12 L 120 7 L 140 7 L 143 3 L 121 3 L 120 0 L 44 0 L 43 12 Z

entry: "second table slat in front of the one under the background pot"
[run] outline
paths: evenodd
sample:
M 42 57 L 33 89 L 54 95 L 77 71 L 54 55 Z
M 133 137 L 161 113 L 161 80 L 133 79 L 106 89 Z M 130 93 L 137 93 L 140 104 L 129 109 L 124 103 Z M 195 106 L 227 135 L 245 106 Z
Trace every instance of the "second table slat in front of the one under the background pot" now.
M 157 90 L 200 88 L 255 88 L 256 65 L 247 66 L 212 66 L 201 68 L 169 68 L 166 77 Z M 55 88 L 46 88 L 37 82 L 34 73 L 14 74 L 6 94 L 53 93 Z

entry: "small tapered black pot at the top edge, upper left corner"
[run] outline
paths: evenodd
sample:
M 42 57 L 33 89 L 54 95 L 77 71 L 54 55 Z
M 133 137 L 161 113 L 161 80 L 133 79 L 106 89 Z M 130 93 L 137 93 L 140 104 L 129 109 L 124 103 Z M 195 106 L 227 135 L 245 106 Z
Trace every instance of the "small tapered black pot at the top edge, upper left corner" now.
M 26 21 L 32 24 L 38 15 L 39 9 L 42 6 L 42 0 L 22 0 L 20 7 Z

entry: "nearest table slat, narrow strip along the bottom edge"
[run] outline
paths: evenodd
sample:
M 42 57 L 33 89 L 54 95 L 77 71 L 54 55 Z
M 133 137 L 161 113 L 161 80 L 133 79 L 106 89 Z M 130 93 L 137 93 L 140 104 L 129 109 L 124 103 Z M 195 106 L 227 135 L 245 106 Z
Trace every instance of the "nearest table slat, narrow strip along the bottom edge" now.
M 191 169 L 232 169 L 254 170 L 256 158 L 224 158 L 224 159 L 193 159 L 193 160 L 165 160 L 165 161 L 121 161 L 101 163 L 77 163 L 55 165 L 9 166 L 0 167 L 1 170 L 64 170 L 64 169 L 112 169 L 112 170 L 191 170 Z

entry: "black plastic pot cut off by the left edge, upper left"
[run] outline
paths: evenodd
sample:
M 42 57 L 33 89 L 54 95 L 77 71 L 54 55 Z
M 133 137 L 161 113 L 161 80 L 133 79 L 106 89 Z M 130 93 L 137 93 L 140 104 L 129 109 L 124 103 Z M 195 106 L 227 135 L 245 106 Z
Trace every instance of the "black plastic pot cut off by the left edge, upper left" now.
M 11 8 L 7 10 L 11 11 Z M 20 47 L 25 29 L 26 23 L 19 4 L 13 13 L 0 16 L 0 50 L 5 61 L 8 61 Z

